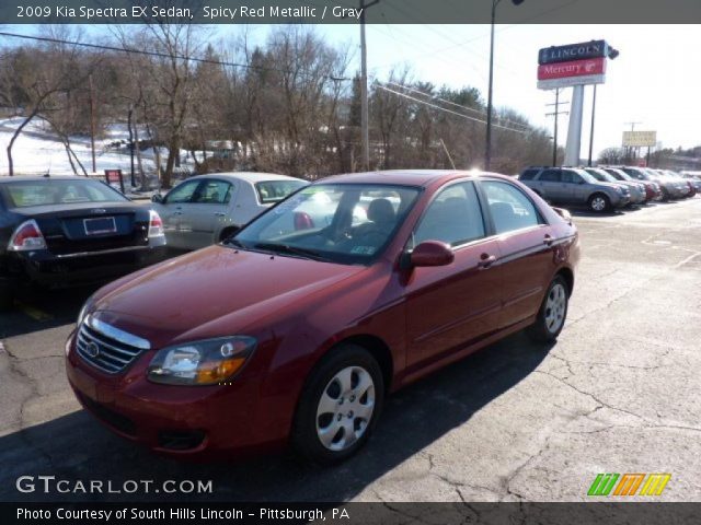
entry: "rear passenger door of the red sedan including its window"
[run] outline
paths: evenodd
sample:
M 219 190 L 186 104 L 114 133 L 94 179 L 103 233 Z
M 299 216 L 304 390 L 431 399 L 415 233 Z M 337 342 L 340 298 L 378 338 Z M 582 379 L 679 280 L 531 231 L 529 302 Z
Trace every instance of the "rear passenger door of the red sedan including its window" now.
M 505 180 L 480 183 L 490 218 L 498 235 L 504 304 L 499 328 L 538 313 L 554 269 L 550 225 L 536 205 L 516 185 Z

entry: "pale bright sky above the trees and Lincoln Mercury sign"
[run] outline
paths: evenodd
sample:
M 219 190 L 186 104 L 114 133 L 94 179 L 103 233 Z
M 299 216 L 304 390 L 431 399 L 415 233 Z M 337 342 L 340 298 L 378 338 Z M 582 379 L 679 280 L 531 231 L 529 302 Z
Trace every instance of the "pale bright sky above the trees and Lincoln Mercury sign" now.
M 7 26 L 5 26 L 7 27 Z M 253 42 L 263 42 L 271 25 L 249 25 Z M 354 51 L 348 74 L 359 69 L 358 25 L 318 25 L 324 39 L 347 45 Z M 34 33 L 36 26 L 13 26 L 18 33 Z M 620 147 L 623 130 L 636 122 L 636 130 L 657 131 L 663 148 L 701 144 L 701 69 L 694 52 L 701 49 L 698 25 L 496 25 L 494 104 L 508 106 L 533 125 L 552 130 L 554 92 L 537 89 L 538 49 L 606 39 L 620 51 L 609 60 L 606 83 L 597 89 L 594 155 Z M 235 35 L 240 25 L 216 26 L 214 37 Z M 91 36 L 108 34 L 94 25 Z M 393 69 L 409 67 L 414 80 L 435 85 L 478 88 L 486 98 L 490 56 L 490 26 L 429 24 L 368 24 L 368 73 L 370 81 L 386 80 Z M 572 89 L 561 93 L 571 100 Z M 593 86 L 585 90 L 582 154 L 589 148 Z M 566 110 L 563 107 L 562 110 Z M 560 117 L 560 143 L 564 145 L 568 116 Z

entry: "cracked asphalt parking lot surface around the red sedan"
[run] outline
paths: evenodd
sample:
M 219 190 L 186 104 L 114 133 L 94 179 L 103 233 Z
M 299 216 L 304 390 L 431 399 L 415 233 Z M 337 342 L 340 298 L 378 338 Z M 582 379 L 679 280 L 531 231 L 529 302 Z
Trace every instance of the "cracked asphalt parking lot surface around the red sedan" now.
M 657 499 L 699 501 L 701 198 L 574 219 L 584 255 L 558 343 L 517 335 L 398 393 L 369 446 L 330 469 L 179 463 L 113 435 L 64 372 L 90 290 L 26 298 L 0 318 L 0 500 L 105 499 L 15 489 L 55 475 L 212 480 L 203 498 L 226 501 L 584 501 L 599 472 L 669 472 Z

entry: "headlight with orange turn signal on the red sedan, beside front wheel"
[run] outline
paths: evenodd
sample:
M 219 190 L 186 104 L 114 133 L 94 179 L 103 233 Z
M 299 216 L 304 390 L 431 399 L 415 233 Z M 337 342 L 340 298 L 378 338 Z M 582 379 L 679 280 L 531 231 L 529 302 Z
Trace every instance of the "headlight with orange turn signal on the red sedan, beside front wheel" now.
M 215 385 L 239 372 L 256 345 L 252 337 L 232 336 L 164 348 L 151 360 L 148 378 L 169 385 Z

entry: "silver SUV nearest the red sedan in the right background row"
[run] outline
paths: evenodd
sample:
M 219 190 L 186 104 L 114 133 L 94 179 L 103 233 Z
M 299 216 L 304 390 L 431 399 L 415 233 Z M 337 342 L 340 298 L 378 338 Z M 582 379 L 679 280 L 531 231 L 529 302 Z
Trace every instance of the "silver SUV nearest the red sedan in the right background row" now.
M 528 167 L 518 177 L 545 200 L 553 203 L 586 205 L 596 212 L 628 206 L 630 190 L 611 183 L 599 183 L 576 167 Z

